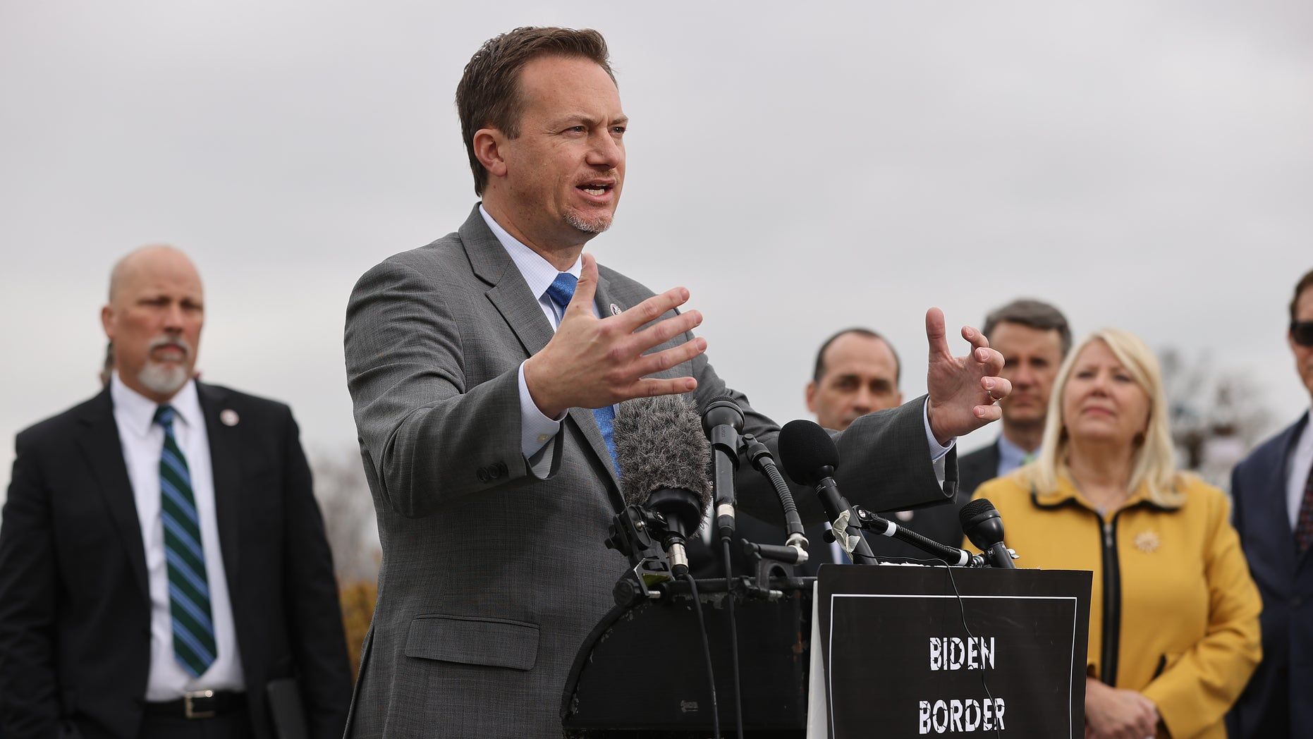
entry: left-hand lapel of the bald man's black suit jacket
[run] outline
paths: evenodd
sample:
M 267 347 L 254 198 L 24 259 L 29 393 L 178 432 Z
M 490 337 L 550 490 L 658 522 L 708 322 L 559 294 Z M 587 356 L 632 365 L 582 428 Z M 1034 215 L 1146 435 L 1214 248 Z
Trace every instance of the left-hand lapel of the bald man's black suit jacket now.
M 109 508 L 109 518 L 127 551 L 133 566 L 133 580 L 142 596 L 150 599 L 146 581 L 146 546 L 142 543 L 142 524 L 137 517 L 137 500 L 133 496 L 133 483 L 123 462 L 123 446 L 114 423 L 114 403 L 106 389 L 96 396 L 89 412 L 83 416 L 85 433 L 77 440 L 83 455 L 91 465 L 95 484 Z

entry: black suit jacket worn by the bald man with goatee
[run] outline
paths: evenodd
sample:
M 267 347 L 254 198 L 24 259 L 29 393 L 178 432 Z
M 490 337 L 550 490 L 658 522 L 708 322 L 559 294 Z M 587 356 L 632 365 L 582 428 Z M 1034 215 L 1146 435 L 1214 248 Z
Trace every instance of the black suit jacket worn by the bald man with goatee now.
M 340 736 L 351 668 L 291 411 L 225 387 L 197 391 L 252 735 L 272 736 L 265 685 L 295 675 L 310 735 Z M 223 410 L 239 423 L 219 423 Z M 109 390 L 21 432 L 16 449 L 0 528 L 3 732 L 137 736 L 150 596 Z

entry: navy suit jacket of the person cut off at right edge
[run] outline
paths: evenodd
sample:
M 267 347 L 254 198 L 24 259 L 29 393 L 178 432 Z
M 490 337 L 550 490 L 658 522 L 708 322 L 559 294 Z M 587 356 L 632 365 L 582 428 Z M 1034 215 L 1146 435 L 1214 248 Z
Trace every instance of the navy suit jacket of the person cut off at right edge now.
M 1296 555 L 1285 503 L 1291 448 L 1308 423 L 1304 413 L 1232 473 L 1233 521 L 1263 596 L 1263 662 L 1228 717 L 1233 738 L 1257 738 L 1287 702 L 1291 736 L 1313 736 L 1313 551 Z

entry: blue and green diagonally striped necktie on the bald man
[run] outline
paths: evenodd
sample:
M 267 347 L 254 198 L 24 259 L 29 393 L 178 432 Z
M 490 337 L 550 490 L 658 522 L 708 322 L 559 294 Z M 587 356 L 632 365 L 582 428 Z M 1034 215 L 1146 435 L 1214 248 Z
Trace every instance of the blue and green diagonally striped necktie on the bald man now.
M 210 618 L 210 587 L 205 576 L 201 517 L 192 496 L 186 457 L 173 437 L 172 406 L 155 410 L 164 427 L 160 450 L 160 520 L 164 524 L 164 562 L 168 566 L 168 606 L 173 620 L 173 659 L 192 677 L 200 677 L 219 651 Z

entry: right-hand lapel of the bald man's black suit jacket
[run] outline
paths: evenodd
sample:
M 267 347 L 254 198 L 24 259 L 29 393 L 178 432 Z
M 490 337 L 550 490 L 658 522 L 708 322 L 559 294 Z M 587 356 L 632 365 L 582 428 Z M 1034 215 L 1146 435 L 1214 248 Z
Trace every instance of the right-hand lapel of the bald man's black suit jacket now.
M 238 423 L 221 423 L 219 413 L 227 394 L 218 387 L 196 383 L 196 394 L 205 415 L 205 434 L 210 438 L 210 470 L 214 473 L 214 515 L 218 518 L 219 549 L 223 551 L 223 571 L 228 580 L 228 593 L 236 600 L 238 564 L 242 545 L 242 453 L 240 417 Z

